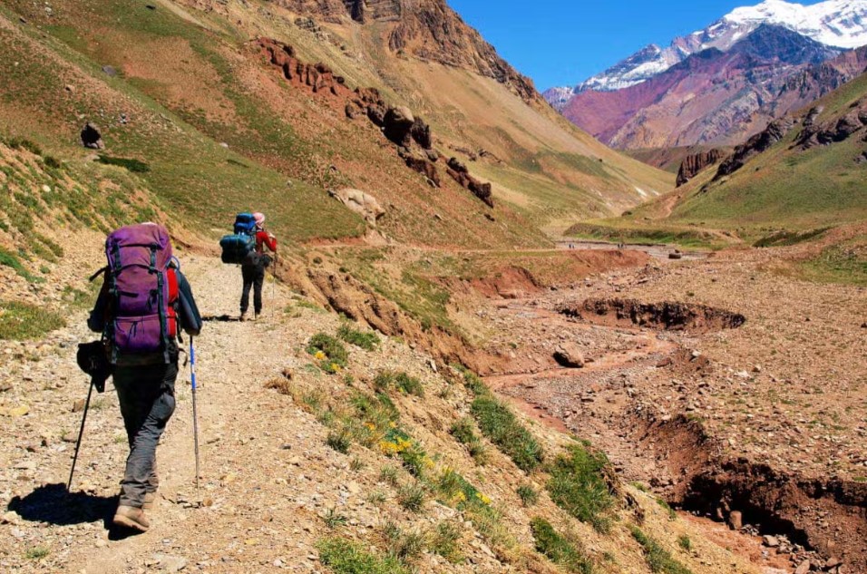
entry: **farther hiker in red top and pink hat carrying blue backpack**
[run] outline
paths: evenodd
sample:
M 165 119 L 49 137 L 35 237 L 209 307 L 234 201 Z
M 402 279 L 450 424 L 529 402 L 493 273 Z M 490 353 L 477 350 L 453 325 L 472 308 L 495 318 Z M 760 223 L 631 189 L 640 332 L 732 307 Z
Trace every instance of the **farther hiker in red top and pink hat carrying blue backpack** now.
M 265 215 L 262 213 L 239 213 L 235 218 L 234 233 L 222 238 L 223 263 L 239 264 L 244 288 L 241 292 L 240 320 L 247 320 L 250 302 L 250 289 L 253 289 L 254 319 L 262 313 L 262 286 L 265 271 L 273 259 L 265 249 L 277 255 L 277 238 L 265 229 Z

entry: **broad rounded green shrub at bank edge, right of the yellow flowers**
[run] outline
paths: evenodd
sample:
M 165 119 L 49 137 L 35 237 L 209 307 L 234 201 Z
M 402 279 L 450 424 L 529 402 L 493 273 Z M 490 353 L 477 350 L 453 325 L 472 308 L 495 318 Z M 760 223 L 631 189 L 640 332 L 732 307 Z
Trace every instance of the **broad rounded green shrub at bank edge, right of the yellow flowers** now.
M 604 453 L 590 452 L 575 444 L 566 454 L 560 454 L 548 469 L 551 500 L 603 533 L 610 529 L 610 519 L 604 514 L 616 501 L 605 477 L 608 465 Z

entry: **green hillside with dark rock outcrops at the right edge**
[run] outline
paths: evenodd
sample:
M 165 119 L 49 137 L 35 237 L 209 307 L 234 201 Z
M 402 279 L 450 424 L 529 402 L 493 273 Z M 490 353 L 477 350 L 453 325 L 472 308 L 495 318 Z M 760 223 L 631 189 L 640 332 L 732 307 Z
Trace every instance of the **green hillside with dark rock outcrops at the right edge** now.
M 867 215 L 865 166 L 867 74 L 862 74 L 771 122 L 722 161 L 705 162 L 695 179 L 636 210 L 635 217 L 736 227 L 754 240 L 786 230 L 821 230 Z M 857 267 L 857 260 L 852 265 Z

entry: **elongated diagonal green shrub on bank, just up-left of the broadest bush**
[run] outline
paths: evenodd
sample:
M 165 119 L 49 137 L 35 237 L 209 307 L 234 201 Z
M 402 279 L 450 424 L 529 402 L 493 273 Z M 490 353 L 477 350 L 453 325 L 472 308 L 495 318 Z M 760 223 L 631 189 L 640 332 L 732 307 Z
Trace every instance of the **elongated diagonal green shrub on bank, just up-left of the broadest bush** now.
M 544 459 L 541 445 L 525 429 L 509 407 L 491 395 L 472 402 L 472 416 L 488 439 L 497 445 L 522 471 L 533 471 Z

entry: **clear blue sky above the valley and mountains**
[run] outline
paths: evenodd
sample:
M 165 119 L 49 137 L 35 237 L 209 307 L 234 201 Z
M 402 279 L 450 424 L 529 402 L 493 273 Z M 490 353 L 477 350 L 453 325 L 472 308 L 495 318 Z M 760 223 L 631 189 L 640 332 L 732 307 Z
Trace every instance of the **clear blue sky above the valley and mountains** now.
M 761 0 L 448 0 L 536 87 L 574 85 L 647 44 L 712 24 Z M 802 0 L 800 4 L 816 4 Z

